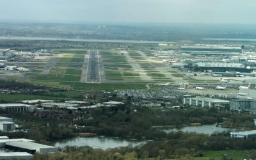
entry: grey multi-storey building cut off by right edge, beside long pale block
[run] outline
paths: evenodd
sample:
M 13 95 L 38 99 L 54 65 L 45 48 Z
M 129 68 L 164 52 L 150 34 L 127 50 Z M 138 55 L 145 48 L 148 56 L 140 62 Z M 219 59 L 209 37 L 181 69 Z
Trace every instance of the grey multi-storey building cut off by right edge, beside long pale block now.
M 256 112 L 256 101 L 252 99 L 231 99 L 230 110 Z

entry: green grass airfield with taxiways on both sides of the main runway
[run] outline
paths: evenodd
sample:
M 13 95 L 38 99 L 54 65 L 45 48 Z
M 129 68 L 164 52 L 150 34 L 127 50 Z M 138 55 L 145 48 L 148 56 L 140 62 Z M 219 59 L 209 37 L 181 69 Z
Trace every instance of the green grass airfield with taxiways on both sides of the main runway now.
M 168 66 L 161 61 L 152 61 L 152 53 L 106 50 L 99 51 L 99 57 L 96 57 L 99 60 L 97 74 L 102 84 L 87 84 L 88 52 L 83 49 L 57 49 L 52 57 L 24 62 L 23 66 L 32 68 L 33 72 L 24 74 L 20 81 L 79 90 L 118 90 L 147 88 L 148 83 L 174 83 L 173 77 L 179 76 L 168 72 Z

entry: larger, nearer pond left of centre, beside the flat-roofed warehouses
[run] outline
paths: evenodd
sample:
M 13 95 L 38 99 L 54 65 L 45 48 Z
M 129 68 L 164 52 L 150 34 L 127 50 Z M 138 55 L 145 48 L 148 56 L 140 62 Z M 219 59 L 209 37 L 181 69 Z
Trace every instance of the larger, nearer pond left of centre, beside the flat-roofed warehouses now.
M 142 145 L 147 141 L 139 140 L 124 140 L 122 138 L 104 137 L 104 136 L 93 136 L 93 137 L 76 137 L 68 140 L 61 140 L 55 143 L 55 147 L 64 148 L 65 146 L 89 146 L 92 148 L 116 148 L 116 147 L 135 147 Z

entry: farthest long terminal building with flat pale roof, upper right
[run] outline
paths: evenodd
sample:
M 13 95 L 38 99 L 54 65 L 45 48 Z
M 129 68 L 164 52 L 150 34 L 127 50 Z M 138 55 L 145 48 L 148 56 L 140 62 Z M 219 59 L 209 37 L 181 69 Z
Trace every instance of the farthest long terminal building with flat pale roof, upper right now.
M 184 45 L 180 46 L 182 52 L 242 52 L 241 47 L 213 46 L 213 45 Z

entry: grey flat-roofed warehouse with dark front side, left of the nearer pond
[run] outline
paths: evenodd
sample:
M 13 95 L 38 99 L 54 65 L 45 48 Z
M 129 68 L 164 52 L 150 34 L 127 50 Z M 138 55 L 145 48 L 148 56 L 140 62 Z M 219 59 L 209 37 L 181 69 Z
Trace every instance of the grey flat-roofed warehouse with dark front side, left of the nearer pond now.
M 28 152 L 29 154 L 35 154 L 35 152 L 52 153 L 58 151 L 57 147 L 42 145 L 30 141 L 6 141 L 5 147 L 18 152 Z

